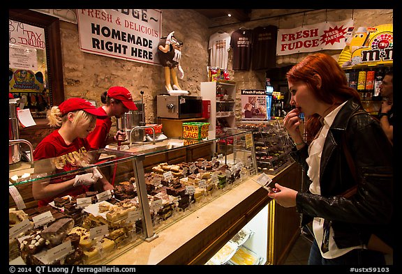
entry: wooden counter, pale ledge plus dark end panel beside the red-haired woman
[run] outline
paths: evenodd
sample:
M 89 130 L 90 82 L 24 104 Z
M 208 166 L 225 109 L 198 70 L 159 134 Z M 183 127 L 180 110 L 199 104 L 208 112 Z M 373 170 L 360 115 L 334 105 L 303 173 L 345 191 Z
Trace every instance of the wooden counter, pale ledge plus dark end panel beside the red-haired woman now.
M 273 183 L 299 189 L 301 169 L 293 164 L 271 178 Z M 140 243 L 108 261 L 108 264 L 205 264 L 267 204 L 267 264 L 281 264 L 299 234 L 299 215 L 295 208 L 283 208 L 270 201 L 267 190 L 248 178 L 221 197 L 159 231 L 153 241 Z

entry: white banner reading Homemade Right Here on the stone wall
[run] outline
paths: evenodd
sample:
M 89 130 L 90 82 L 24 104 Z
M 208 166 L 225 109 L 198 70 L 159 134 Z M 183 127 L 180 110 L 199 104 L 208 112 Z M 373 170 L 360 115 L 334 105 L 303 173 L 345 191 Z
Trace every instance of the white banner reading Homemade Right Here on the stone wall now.
M 77 22 L 83 52 L 160 65 L 161 10 L 78 9 Z

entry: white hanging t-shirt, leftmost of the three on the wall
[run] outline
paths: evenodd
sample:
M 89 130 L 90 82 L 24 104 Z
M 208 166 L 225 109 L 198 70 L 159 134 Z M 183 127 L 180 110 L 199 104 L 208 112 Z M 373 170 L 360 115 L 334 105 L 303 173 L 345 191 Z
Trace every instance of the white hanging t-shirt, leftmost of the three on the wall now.
M 228 68 L 229 50 L 230 50 L 230 34 L 214 33 L 209 37 L 208 50 L 211 51 L 211 67 Z

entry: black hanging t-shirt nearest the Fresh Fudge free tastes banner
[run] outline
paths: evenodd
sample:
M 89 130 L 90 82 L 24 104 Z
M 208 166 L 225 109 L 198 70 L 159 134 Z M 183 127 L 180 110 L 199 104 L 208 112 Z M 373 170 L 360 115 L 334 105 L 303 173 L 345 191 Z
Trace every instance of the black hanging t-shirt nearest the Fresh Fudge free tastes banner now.
M 276 67 L 276 39 L 278 27 L 257 26 L 253 29 L 253 70 L 263 70 Z

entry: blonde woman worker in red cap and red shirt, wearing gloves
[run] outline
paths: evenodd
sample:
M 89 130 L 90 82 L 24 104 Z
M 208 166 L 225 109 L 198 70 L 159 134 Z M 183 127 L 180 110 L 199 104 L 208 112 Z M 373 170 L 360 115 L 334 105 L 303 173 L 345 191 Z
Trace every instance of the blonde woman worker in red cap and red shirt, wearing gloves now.
M 65 174 L 70 170 L 89 166 L 89 161 L 86 165 L 82 165 L 78 160 L 90 150 L 86 137 L 95 128 L 96 119 L 106 117 L 105 113 L 82 98 L 70 98 L 47 112 L 48 124 L 59 129 L 47 135 L 36 146 L 35 172 L 61 174 L 61 176 L 52 176 L 50 181 L 32 183 L 32 194 L 34 199 L 38 200 L 38 206 L 49 204 L 54 197 L 85 193 L 98 181 L 103 190 L 113 189 L 96 168 L 88 168 L 84 174 Z M 50 161 L 43 160 L 47 158 L 51 158 Z

